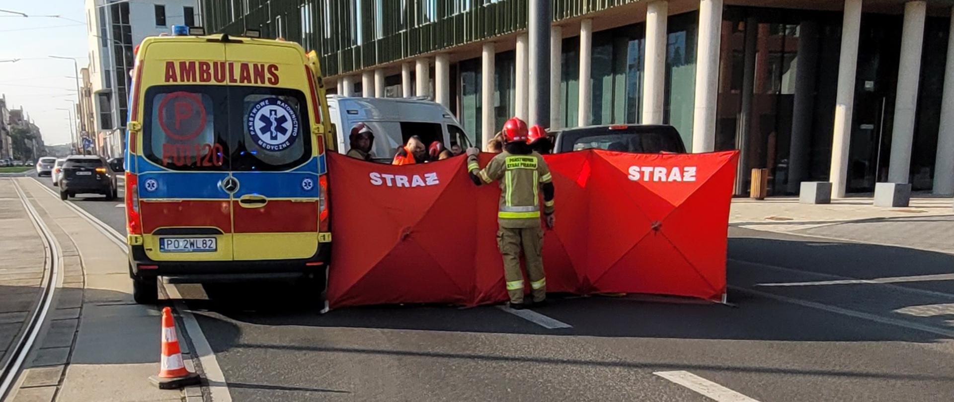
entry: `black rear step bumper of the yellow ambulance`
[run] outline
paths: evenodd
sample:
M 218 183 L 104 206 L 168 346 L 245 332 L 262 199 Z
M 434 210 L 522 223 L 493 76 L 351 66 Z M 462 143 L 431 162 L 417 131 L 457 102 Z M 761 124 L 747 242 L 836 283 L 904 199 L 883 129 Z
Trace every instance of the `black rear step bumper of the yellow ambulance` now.
M 310 274 L 323 276 L 331 260 L 330 243 L 320 243 L 318 251 L 309 258 L 261 261 L 155 261 L 146 255 L 141 245 L 129 248 L 130 275 L 144 278 L 163 276 L 171 283 L 286 280 Z M 139 265 L 156 268 L 140 270 Z

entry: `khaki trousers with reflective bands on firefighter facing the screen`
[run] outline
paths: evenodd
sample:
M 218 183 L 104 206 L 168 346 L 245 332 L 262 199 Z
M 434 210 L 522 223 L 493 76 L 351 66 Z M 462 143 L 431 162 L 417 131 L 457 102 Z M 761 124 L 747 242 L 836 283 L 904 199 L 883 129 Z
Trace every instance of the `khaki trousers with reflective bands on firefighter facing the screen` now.
M 543 271 L 543 229 L 500 228 L 497 231 L 497 246 L 504 255 L 504 278 L 510 303 L 524 302 L 524 273 L 520 270 L 520 251 L 523 251 L 527 263 L 527 276 L 533 301 L 541 302 L 547 298 L 547 278 Z

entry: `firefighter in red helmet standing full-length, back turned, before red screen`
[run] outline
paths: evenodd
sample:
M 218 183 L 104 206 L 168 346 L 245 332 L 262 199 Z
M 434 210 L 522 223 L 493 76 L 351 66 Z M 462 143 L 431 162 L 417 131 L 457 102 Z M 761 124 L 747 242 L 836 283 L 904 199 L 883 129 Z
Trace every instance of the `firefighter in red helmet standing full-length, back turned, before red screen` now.
M 504 276 L 512 309 L 524 309 L 524 275 L 520 270 L 520 251 L 527 262 L 533 304 L 541 306 L 547 298 L 547 278 L 543 270 L 543 230 L 540 228 L 540 200 L 543 192 L 543 213 L 552 229 L 553 183 L 550 168 L 543 156 L 527 143 L 527 124 L 513 117 L 504 124 L 504 151 L 487 163 L 483 170 L 477 163 L 480 150 L 467 150 L 467 171 L 474 184 L 480 186 L 500 181 L 500 207 L 497 212 L 497 246 L 504 255 Z

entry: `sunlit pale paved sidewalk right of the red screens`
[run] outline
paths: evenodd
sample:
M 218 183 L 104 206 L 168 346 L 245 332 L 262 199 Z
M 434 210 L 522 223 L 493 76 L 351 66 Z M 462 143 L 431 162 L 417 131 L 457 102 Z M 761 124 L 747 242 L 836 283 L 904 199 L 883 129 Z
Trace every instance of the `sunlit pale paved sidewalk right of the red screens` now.
M 758 231 L 808 234 L 862 243 L 954 253 L 954 202 L 913 198 L 908 208 L 880 208 L 870 198 L 842 198 L 829 205 L 798 198 L 735 199 L 730 225 Z

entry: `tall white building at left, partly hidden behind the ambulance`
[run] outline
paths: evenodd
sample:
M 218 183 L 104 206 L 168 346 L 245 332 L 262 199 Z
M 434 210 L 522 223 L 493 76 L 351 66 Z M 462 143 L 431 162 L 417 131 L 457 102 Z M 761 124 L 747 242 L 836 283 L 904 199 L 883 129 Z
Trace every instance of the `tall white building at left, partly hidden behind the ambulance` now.
M 135 46 L 147 36 L 169 33 L 173 25 L 197 25 L 197 0 L 86 0 L 86 21 L 93 92 L 91 137 L 97 148 L 118 155 L 125 141 Z

